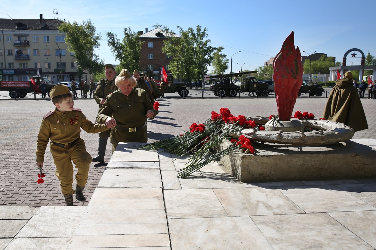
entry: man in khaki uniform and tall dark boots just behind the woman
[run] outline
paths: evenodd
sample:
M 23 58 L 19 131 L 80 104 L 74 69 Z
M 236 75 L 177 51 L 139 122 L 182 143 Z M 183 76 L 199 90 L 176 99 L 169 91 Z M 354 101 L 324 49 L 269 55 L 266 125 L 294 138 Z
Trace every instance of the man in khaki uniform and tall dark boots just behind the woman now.
M 105 103 L 107 96 L 118 89 L 118 87 L 115 85 L 115 74 L 115 67 L 112 64 L 106 64 L 106 79 L 102 78 L 99 80 L 97 89 L 93 94 L 95 101 L 97 102 L 97 104 L 99 104 L 98 112 L 102 109 L 102 104 Z M 110 130 L 99 133 L 98 154 L 93 158 L 93 161 L 105 161 L 108 137 L 110 137 Z

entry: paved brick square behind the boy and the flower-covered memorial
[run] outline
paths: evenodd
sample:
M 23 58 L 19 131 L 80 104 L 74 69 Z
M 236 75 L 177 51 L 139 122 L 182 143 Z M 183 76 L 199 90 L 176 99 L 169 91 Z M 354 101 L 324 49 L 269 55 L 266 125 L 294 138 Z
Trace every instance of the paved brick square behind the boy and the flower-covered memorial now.
M 4 92 L 2 92 L 4 93 Z M 200 99 L 201 90 L 190 90 L 196 98 L 180 98 L 177 93 L 166 93 L 160 102 L 159 115 L 148 122 L 149 141 L 165 139 L 188 130 L 193 122 L 203 122 L 211 116 L 211 111 L 219 112 L 221 107 L 227 107 L 233 115 L 270 116 L 277 113 L 277 105 L 273 97 L 268 98 L 205 98 Z M 205 97 L 211 97 L 205 92 Z M 242 96 L 245 97 L 245 96 Z M 321 117 L 325 98 L 298 98 L 294 111 L 308 111 L 315 117 Z M 374 112 L 375 100 L 362 99 L 367 116 L 368 127 L 376 123 Z M 44 114 L 54 109 L 48 100 L 1 99 L 0 107 L 0 206 L 22 205 L 29 207 L 64 206 L 65 202 L 60 191 L 58 178 L 55 176 L 55 166 L 52 155 L 47 150 L 44 170 L 44 184 L 37 184 L 38 171 L 35 166 L 36 137 Z M 98 105 L 93 99 L 78 99 L 75 107 L 81 108 L 89 120 L 94 121 Z M 355 133 L 354 138 L 376 139 L 376 128 L 371 127 Z M 96 155 L 98 135 L 82 131 L 86 150 Z M 108 143 L 106 161 L 111 157 L 111 144 Z M 97 187 L 105 166 L 92 163 L 89 170 L 88 184 L 85 188 L 87 200 L 75 205 L 86 206 Z M 75 183 L 73 185 L 76 185 Z

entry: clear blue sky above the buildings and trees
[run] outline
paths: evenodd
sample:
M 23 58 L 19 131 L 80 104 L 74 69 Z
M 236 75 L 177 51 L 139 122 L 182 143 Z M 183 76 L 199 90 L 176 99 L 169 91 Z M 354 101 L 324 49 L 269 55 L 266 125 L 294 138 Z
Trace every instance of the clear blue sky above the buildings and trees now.
M 64 3 L 63 5 L 61 3 Z M 22 7 L 20 7 L 22 6 Z M 76 20 L 78 23 L 91 19 L 102 33 L 101 47 L 97 53 L 106 63 L 116 64 L 106 42 L 105 34 L 112 31 L 123 37 L 124 27 L 132 31 L 149 31 L 155 24 L 176 30 L 201 25 L 208 29 L 212 46 L 223 46 L 222 53 L 230 59 L 232 70 L 253 70 L 275 56 L 291 31 L 295 33 L 295 46 L 309 54 L 314 51 L 335 56 L 342 62 L 344 53 L 358 48 L 365 54 L 376 56 L 375 0 L 270 0 L 270 1 L 120 1 L 82 0 L 2 1 L 2 18 L 37 19 L 54 18 L 58 9 L 59 19 Z M 5 11 L 6 10 L 6 11 Z M 360 65 L 357 58 L 347 59 L 347 64 Z M 239 63 L 239 64 L 237 64 Z M 230 65 L 227 72 L 230 71 Z

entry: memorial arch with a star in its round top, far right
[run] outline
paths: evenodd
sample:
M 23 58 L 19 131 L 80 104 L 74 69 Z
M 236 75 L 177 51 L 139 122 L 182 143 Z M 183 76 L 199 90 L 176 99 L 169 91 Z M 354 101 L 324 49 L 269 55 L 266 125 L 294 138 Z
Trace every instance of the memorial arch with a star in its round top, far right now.
M 350 54 L 352 57 L 359 58 L 359 57 L 356 57 L 357 54 L 355 53 L 355 51 L 360 52 L 361 55 L 362 55 L 360 65 L 349 65 L 349 66 L 347 66 L 346 65 L 347 55 L 350 52 L 353 52 L 352 54 Z M 342 76 L 344 75 L 344 73 L 346 71 L 359 70 L 359 81 L 363 80 L 363 75 L 364 75 L 365 70 L 373 70 L 373 79 L 372 80 L 375 80 L 376 79 L 376 65 L 366 66 L 366 65 L 364 65 L 364 63 L 365 63 L 365 56 L 364 56 L 363 51 L 359 50 L 358 48 L 352 48 L 352 49 L 346 51 L 346 53 L 344 54 L 342 66 L 329 67 L 329 80 L 331 80 L 331 81 L 337 80 L 337 77 L 335 76 L 335 73 L 337 72 L 337 70 L 341 71 L 340 74 Z

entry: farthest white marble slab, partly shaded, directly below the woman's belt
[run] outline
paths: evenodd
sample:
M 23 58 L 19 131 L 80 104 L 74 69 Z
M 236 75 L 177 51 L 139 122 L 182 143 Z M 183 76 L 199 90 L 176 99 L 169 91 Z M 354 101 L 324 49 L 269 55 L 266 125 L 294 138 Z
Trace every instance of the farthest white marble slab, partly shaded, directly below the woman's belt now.
M 155 161 L 158 162 L 158 152 L 155 150 L 137 150 L 139 145 L 145 143 L 120 142 L 116 151 L 111 156 L 111 161 Z

